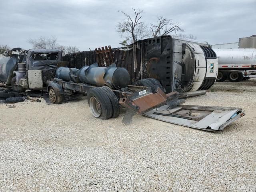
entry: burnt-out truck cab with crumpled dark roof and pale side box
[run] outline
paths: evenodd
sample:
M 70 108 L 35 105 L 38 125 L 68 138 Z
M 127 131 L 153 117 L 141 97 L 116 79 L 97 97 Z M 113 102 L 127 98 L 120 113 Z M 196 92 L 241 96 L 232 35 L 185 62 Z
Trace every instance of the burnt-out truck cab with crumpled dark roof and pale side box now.
M 19 59 L 22 57 L 23 59 Z M 54 78 L 57 64 L 61 62 L 62 50 L 30 49 L 19 52 L 12 70 L 6 71 L 12 89 L 23 92 L 26 89 L 46 90 L 46 81 Z M 10 59 L 9 59 L 10 60 Z

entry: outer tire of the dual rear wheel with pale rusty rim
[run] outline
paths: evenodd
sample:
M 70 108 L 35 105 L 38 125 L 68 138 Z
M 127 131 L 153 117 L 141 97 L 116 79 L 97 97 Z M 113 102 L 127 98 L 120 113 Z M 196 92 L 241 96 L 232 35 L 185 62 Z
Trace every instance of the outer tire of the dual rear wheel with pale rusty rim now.
M 87 93 L 92 115 L 99 119 L 109 119 L 113 114 L 112 104 L 104 88 L 94 87 Z

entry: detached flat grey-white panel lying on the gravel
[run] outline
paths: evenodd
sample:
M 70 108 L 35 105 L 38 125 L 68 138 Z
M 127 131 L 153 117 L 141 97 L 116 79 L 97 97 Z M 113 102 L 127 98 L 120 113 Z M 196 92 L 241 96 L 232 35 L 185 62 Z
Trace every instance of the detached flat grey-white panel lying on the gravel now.
M 143 115 L 191 128 L 220 131 L 245 114 L 241 108 L 178 105 L 168 109 L 165 105 Z

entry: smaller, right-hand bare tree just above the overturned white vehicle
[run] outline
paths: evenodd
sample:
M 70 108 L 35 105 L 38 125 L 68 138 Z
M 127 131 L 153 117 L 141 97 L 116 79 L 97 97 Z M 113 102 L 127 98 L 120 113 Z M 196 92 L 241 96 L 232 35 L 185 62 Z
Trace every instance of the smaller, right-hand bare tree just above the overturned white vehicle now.
M 150 27 L 152 36 L 154 37 L 168 35 L 171 32 L 175 32 L 176 34 L 178 31 L 184 31 L 182 28 L 180 28 L 180 24 L 172 23 L 171 19 L 166 19 L 162 16 L 157 16 L 157 20 L 157 24 L 151 23 Z

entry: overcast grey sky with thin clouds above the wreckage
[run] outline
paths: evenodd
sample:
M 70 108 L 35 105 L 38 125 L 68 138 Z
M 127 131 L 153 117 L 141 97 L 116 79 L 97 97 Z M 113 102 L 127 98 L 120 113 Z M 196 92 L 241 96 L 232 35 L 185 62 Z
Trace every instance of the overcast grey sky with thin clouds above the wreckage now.
M 143 9 L 147 23 L 158 15 L 179 22 L 209 44 L 256 34 L 256 0 L 0 0 L 0 44 L 28 49 L 28 38 L 56 36 L 58 44 L 80 51 L 120 47 L 118 10 L 132 14 L 131 8 Z

